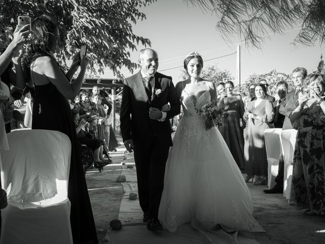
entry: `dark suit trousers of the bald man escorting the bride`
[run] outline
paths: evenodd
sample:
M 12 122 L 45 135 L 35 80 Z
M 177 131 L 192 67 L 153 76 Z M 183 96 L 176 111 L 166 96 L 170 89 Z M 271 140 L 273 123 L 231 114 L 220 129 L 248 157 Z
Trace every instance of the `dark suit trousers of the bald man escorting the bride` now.
M 169 147 L 153 135 L 148 140 L 133 139 L 133 143 L 140 206 L 149 219 L 157 219 Z

